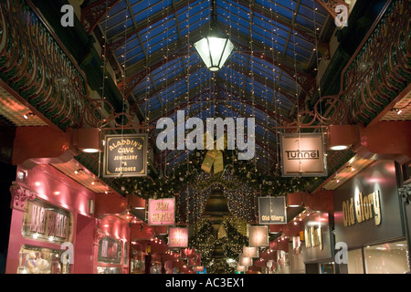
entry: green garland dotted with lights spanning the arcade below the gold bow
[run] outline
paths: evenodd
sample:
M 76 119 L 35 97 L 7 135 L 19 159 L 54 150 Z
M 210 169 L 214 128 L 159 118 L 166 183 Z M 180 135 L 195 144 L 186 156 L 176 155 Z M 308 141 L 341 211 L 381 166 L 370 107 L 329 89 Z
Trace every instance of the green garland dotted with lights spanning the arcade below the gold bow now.
M 134 194 L 143 199 L 172 197 L 175 193 L 181 193 L 186 185 L 192 185 L 197 190 L 205 190 L 215 183 L 222 184 L 229 190 L 242 187 L 244 183 L 248 187 L 263 195 L 286 195 L 307 190 L 317 177 L 282 177 L 279 171 L 259 172 L 253 161 L 237 160 L 237 151 L 225 150 L 224 172 L 207 174 L 208 178 L 200 179 L 201 164 L 205 159 L 206 151 L 193 151 L 189 156 L 189 163 L 181 163 L 169 176 L 144 178 L 115 178 L 111 179 L 111 186 L 119 193 Z

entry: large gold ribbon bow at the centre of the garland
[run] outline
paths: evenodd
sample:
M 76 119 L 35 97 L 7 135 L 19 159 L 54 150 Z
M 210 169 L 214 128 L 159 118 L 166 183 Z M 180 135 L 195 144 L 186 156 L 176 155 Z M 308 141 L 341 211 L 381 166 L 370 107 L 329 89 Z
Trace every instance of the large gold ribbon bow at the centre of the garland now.
M 206 141 L 214 141 L 213 136 L 209 132 L 204 134 L 204 145 L 206 147 Z M 201 164 L 201 169 L 207 173 L 211 172 L 211 168 L 214 166 L 214 173 L 224 171 L 223 151 L 227 148 L 227 134 L 220 136 L 214 141 L 213 149 L 208 150 L 205 153 L 205 159 Z

